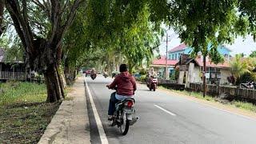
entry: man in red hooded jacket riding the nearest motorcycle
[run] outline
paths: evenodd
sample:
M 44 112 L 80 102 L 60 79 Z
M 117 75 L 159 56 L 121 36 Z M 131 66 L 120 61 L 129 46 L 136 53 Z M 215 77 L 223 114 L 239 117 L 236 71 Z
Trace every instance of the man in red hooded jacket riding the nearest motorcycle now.
M 120 74 L 114 78 L 114 82 L 107 85 L 109 89 L 116 89 L 117 91 L 110 96 L 110 104 L 108 120 L 113 119 L 115 103 L 125 98 L 133 98 L 134 91 L 137 89 L 135 78 L 127 71 L 126 64 L 122 64 L 119 67 Z

